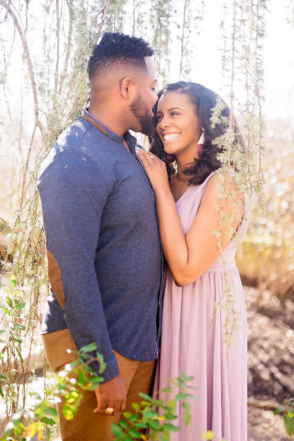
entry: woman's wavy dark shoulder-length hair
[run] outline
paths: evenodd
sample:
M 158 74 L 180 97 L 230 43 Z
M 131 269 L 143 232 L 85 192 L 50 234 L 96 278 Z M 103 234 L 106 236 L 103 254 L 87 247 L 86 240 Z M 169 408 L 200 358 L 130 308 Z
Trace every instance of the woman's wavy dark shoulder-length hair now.
M 223 148 L 212 144 L 212 141 L 225 133 L 230 116 L 230 109 L 227 107 L 227 105 L 224 105 L 223 110 L 220 112 L 220 122 L 216 123 L 215 127 L 212 128 L 210 119 L 212 117 L 212 109 L 216 106 L 216 100 L 218 97 L 215 92 L 198 83 L 179 81 L 164 86 L 164 88 L 158 93 L 158 99 L 160 99 L 162 95 L 169 92 L 186 94 L 188 100 L 195 108 L 195 114 L 200 118 L 200 124 L 204 134 L 203 150 L 200 153 L 199 159 L 195 158 L 193 163 L 187 164 L 187 166 L 182 170 L 182 172 L 186 175 L 186 180 L 189 185 L 200 185 L 205 181 L 210 173 L 222 166 L 216 156 L 217 153 L 221 153 L 223 151 Z M 156 119 L 158 102 L 159 101 L 157 101 L 153 107 L 154 127 L 156 127 L 158 123 Z M 236 121 L 234 121 L 234 131 L 236 133 L 234 144 L 238 143 L 240 146 L 243 146 L 243 138 L 238 131 Z M 164 145 L 157 132 L 155 132 L 155 134 L 149 138 L 149 141 L 151 145 L 149 150 L 150 153 L 154 153 L 167 164 L 167 173 L 168 177 L 170 178 L 176 161 L 175 155 L 172 155 L 172 159 L 167 159 L 167 153 L 164 151 Z

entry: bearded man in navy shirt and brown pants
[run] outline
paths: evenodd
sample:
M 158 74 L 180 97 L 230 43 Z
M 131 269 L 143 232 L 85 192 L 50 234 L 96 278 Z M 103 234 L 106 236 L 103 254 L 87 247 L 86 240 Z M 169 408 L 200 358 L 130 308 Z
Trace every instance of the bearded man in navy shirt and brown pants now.
M 127 132 L 154 131 L 152 55 L 142 39 L 104 34 L 89 60 L 89 109 L 60 135 L 38 181 L 52 286 L 48 363 L 58 371 L 74 359 L 67 349 L 92 342 L 106 363 L 104 383 L 84 393 L 73 420 L 59 405 L 63 441 L 111 440 L 110 424 L 152 384 L 163 254 L 153 189 Z

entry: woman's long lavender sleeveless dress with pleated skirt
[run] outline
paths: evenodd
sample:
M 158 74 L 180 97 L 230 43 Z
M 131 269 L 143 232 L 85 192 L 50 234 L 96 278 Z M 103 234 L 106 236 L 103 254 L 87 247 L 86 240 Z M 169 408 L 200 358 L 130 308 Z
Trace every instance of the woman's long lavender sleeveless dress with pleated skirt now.
M 176 203 L 185 234 L 212 174 L 201 185 L 189 187 Z M 238 228 L 238 240 L 246 232 L 246 218 L 247 206 Z M 169 269 L 166 270 L 155 390 L 167 387 L 167 378 L 178 377 L 183 371 L 194 376 L 190 384 L 197 390 L 191 393 L 201 399 L 191 400 L 192 421 L 188 426 L 183 422 L 184 409 L 177 403 L 179 421 L 174 422 L 181 430 L 171 433 L 171 441 L 200 441 L 202 431 L 208 429 L 215 434 L 213 441 L 222 437 L 227 441 L 247 440 L 247 321 L 235 251 L 234 237 L 223 252 L 225 271 L 231 273 L 234 310 L 239 314 L 239 330 L 233 335 L 228 360 L 227 345 L 223 342 L 226 310 L 215 312 L 214 308 L 214 302 L 222 302 L 225 276 L 222 256 L 196 282 L 183 288 L 176 286 Z M 160 396 L 163 397 L 164 394 Z

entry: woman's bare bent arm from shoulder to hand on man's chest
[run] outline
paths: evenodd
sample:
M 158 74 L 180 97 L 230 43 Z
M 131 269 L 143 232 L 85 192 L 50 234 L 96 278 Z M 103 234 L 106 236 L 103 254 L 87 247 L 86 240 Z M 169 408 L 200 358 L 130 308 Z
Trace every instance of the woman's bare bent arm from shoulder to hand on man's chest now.
M 223 234 L 220 238 L 214 234 L 221 228 L 220 210 L 216 208 L 220 199 L 218 183 L 213 177 L 208 181 L 193 224 L 185 236 L 168 185 L 165 164 L 155 155 L 150 164 L 147 157 L 148 153 L 144 155 L 143 161 L 156 192 L 164 255 L 175 283 L 178 286 L 186 286 L 197 280 L 216 261 L 232 237 L 232 232 L 228 234 L 225 224 L 222 226 Z M 236 191 L 233 176 L 226 177 L 225 186 L 233 198 L 223 202 L 222 208 L 225 209 L 228 218 L 233 217 L 230 227 L 235 231 L 244 211 L 242 195 Z M 234 204 L 237 204 L 237 210 Z

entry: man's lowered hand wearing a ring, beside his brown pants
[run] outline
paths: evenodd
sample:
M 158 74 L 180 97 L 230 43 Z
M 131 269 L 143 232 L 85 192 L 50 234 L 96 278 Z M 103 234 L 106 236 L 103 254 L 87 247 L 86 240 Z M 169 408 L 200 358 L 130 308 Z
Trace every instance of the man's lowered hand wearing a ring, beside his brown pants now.
M 116 415 L 117 412 L 123 412 L 125 410 L 127 392 L 120 374 L 107 383 L 102 383 L 97 386 L 95 393 L 97 398 L 97 407 L 93 410 L 95 414 L 106 415 L 106 407 L 114 408 L 111 415 Z

